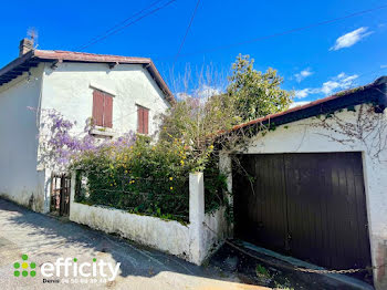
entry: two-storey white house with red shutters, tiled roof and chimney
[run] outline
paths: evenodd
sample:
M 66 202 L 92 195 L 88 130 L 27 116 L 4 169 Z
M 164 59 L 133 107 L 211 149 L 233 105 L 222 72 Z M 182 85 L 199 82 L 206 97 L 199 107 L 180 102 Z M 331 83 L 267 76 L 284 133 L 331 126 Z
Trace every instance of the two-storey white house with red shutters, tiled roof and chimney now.
M 130 131 L 153 135 L 174 96 L 150 59 L 33 50 L 0 70 L 0 195 L 33 210 L 50 211 L 51 170 L 38 164 L 42 112 L 54 108 L 82 132 Z M 33 111 L 29 108 L 34 108 Z

